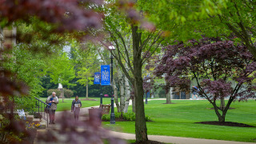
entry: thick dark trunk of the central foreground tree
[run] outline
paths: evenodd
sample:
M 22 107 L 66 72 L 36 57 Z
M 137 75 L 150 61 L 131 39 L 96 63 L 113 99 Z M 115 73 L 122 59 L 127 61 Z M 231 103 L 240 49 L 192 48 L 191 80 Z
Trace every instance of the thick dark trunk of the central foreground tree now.
M 135 134 L 136 142 L 146 142 L 147 130 L 146 119 L 143 102 L 143 80 L 142 80 L 142 49 L 139 47 L 141 42 L 141 34 L 138 33 L 138 26 L 131 26 L 133 37 L 133 56 L 134 56 L 134 92 L 135 92 Z

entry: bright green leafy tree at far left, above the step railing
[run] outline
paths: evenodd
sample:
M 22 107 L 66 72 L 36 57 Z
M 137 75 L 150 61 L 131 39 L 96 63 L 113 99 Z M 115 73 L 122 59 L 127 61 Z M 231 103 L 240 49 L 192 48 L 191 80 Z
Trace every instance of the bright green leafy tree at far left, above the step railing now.
M 4 56 L 6 61 L 3 66 L 6 70 L 15 73 L 12 78 L 22 81 L 28 86 L 26 97 L 14 94 L 9 97 L 9 100 L 15 103 L 17 109 L 31 112 L 34 110 L 34 97 L 40 96 L 43 90 L 40 77 L 45 74 L 46 59 L 44 54 L 34 54 L 30 50 L 26 50 L 25 44 L 18 44 L 14 46 L 13 50 L 5 53 Z

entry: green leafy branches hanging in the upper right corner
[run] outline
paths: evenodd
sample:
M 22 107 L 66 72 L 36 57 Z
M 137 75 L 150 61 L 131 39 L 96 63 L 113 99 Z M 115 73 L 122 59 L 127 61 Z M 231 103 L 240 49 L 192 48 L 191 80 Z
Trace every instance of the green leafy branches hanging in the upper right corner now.
M 210 35 L 214 29 L 222 38 L 235 38 L 234 41 L 242 43 L 256 58 L 256 13 L 254 1 L 227 1 L 226 8 L 219 9 L 221 14 L 211 14 L 205 22 L 212 26 L 199 27 L 204 34 Z M 213 28 L 214 27 L 214 28 Z

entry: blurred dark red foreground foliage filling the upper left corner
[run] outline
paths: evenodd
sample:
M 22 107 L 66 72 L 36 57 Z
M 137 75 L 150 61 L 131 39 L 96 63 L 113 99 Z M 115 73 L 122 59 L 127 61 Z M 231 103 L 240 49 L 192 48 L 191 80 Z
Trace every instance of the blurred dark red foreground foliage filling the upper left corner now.
M 51 33 L 63 34 L 99 28 L 102 14 L 95 12 L 90 5 L 101 2 L 102 0 L 0 0 L 0 28 L 12 26 L 15 22 L 30 22 L 31 17 L 53 24 Z M 3 97 L 28 92 L 27 86 L 2 66 L 5 60 L 2 53 L 10 49 L 11 46 L 0 47 L 0 95 Z

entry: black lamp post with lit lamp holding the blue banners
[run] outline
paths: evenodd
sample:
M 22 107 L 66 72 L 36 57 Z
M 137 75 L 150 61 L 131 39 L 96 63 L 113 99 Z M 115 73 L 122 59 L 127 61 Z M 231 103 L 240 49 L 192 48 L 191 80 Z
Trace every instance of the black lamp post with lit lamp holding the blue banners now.
M 112 50 L 114 50 L 114 46 L 109 46 L 110 52 L 111 52 L 111 114 L 110 114 L 110 124 L 115 124 L 115 118 L 114 118 L 114 93 L 113 93 L 113 55 Z

